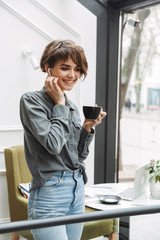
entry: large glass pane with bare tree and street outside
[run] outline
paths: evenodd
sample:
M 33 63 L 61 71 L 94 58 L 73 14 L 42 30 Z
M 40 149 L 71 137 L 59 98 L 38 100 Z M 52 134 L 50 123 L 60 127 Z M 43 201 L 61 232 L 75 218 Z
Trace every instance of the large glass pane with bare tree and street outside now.
M 125 14 L 120 88 L 119 181 L 160 156 L 160 6 Z

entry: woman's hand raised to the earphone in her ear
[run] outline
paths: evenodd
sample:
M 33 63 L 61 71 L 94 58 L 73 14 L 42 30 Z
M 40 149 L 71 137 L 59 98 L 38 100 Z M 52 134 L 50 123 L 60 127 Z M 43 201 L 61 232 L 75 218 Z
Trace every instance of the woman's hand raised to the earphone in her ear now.
M 48 75 L 45 81 L 45 89 L 56 105 L 65 105 L 64 93 L 58 86 L 57 81 L 58 78 Z

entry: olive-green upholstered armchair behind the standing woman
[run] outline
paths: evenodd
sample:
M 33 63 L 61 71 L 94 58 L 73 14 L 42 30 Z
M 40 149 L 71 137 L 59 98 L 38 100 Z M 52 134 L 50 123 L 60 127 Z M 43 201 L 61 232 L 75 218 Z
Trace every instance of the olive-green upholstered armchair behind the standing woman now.
M 9 210 L 11 221 L 27 220 L 28 200 L 19 191 L 20 183 L 31 181 L 31 174 L 25 161 L 24 146 L 13 146 L 5 149 L 5 164 L 7 173 Z M 86 212 L 95 211 L 86 207 Z M 88 240 L 107 235 L 110 240 L 117 239 L 117 219 L 99 220 L 84 223 L 81 240 Z M 30 231 L 19 232 L 28 240 L 33 240 Z M 13 234 L 13 239 L 18 239 L 18 234 Z

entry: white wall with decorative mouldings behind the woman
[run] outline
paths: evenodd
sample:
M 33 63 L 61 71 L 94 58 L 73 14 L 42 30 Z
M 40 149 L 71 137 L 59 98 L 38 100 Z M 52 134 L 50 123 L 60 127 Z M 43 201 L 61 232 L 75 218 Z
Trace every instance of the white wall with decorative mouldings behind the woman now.
M 29 47 L 39 62 L 52 39 L 72 39 L 84 48 L 89 72 L 70 98 L 82 106 L 95 103 L 96 17 L 76 0 L 0 0 L 0 222 L 9 221 L 4 148 L 23 144 L 19 99 L 26 91 L 42 88 L 46 75 L 34 70 L 22 55 Z M 94 142 L 86 160 L 93 183 Z

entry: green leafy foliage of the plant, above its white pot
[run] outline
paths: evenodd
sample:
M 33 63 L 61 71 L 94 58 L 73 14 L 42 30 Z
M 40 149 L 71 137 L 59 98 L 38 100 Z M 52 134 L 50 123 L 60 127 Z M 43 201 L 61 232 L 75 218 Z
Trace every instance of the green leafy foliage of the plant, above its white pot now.
M 160 160 L 151 160 L 146 170 L 149 171 L 150 181 L 155 178 L 155 182 L 160 182 Z

